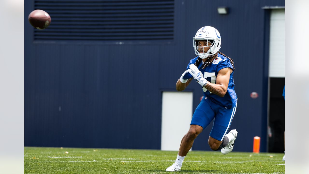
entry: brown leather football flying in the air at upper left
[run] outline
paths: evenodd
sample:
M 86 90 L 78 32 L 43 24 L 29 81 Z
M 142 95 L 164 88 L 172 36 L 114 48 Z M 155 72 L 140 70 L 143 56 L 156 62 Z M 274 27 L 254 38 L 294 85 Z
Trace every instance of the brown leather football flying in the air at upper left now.
M 32 11 L 28 16 L 28 20 L 34 28 L 40 30 L 47 28 L 52 21 L 49 14 L 43 10 Z

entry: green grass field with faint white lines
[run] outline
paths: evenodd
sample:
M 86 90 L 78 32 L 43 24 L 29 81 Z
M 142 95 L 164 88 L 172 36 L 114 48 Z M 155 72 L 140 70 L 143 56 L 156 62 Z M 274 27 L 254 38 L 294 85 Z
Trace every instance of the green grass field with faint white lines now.
M 66 153 L 68 152 L 68 153 Z M 190 151 L 181 171 L 165 172 L 177 151 L 85 148 L 24 148 L 25 173 L 285 173 L 283 154 Z

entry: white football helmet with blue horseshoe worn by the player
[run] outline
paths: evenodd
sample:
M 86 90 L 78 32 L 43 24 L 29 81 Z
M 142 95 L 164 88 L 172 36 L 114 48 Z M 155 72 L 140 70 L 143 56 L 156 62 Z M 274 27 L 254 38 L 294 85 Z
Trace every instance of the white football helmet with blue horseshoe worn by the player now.
M 205 40 L 207 42 L 212 43 L 209 46 L 198 46 L 198 41 Z M 205 26 L 200 28 L 195 37 L 193 37 L 193 47 L 195 54 L 198 55 L 201 59 L 205 59 L 208 56 L 212 56 L 216 54 L 221 48 L 221 36 L 218 30 L 214 27 Z M 203 53 L 199 53 L 198 48 L 203 47 Z M 204 48 L 210 47 L 210 49 L 204 53 Z

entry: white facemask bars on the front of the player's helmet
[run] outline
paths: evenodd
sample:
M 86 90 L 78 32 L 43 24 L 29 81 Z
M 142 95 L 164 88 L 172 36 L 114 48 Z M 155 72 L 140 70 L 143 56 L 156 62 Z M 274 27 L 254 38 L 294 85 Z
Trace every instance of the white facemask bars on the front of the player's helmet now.
M 207 43 L 207 46 L 198 46 L 198 41 L 205 41 Z M 211 44 L 210 44 L 210 43 Z M 201 59 L 205 59 L 207 58 L 208 56 L 211 56 L 211 55 L 214 55 L 212 52 L 214 51 L 215 49 L 215 46 L 214 46 L 215 42 L 214 42 L 214 39 L 213 38 L 203 38 L 203 39 L 195 39 L 193 38 L 193 47 L 194 47 L 194 51 L 195 51 L 195 54 L 198 55 Z M 210 47 L 209 50 L 205 53 L 204 49 L 206 47 Z M 202 53 L 200 53 L 200 49 L 202 48 Z

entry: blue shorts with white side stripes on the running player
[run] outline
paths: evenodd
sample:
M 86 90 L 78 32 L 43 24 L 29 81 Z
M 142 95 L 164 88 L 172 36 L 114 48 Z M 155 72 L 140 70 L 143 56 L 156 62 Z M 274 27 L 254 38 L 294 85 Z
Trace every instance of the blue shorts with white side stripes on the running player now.
M 191 125 L 199 125 L 203 127 L 204 130 L 214 119 L 214 125 L 211 129 L 210 137 L 222 141 L 231 126 L 236 107 L 237 103 L 233 108 L 226 108 L 213 103 L 210 99 L 203 98 L 194 111 Z

